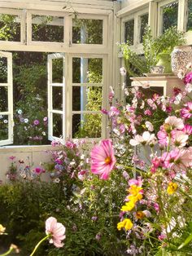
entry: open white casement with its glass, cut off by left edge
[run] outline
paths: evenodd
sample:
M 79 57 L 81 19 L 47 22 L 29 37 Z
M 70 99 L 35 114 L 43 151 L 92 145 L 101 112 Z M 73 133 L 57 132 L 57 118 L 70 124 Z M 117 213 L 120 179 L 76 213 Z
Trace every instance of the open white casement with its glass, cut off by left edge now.
M 0 51 L 0 146 L 13 143 L 12 54 Z

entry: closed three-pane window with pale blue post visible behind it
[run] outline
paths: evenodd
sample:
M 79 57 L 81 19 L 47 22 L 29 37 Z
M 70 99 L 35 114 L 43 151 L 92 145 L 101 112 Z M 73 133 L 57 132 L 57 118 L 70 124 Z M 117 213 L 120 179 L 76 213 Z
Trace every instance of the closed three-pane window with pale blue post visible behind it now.
M 69 58 L 69 87 L 72 138 L 99 139 L 103 136 L 103 115 L 107 95 L 105 86 L 106 59 L 100 55 L 73 55 Z

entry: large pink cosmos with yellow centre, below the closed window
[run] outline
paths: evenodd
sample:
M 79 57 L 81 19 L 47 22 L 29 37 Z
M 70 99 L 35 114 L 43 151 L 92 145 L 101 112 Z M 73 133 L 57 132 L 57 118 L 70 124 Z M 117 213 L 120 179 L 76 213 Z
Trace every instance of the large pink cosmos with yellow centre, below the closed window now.
M 108 179 L 111 170 L 116 164 L 116 157 L 110 139 L 104 139 L 100 145 L 96 145 L 91 153 L 91 171 L 99 174 L 100 179 Z

